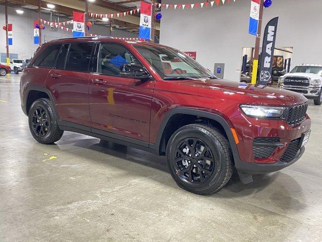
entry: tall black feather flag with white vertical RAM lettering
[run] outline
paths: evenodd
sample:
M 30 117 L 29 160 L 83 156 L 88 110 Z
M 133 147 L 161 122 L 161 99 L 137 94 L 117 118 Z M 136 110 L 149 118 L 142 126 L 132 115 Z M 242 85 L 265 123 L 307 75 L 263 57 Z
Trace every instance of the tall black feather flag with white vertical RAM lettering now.
M 263 36 L 263 47 L 259 69 L 259 84 L 267 85 L 271 80 L 273 55 L 276 41 L 278 17 L 270 20 L 266 25 Z

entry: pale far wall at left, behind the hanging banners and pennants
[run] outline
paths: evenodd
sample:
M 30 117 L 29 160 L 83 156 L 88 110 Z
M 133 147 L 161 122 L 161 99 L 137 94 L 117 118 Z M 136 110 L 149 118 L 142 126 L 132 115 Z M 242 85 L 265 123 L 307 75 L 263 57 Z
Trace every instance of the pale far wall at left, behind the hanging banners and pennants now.
M 42 14 L 42 19 L 49 21 L 50 16 L 47 14 Z M 24 9 L 24 13 L 19 15 L 16 13 L 15 9 L 8 8 L 8 23 L 13 24 L 13 45 L 9 46 L 9 52 L 18 54 L 19 58 L 26 59 L 30 58 L 32 54 L 38 47 L 38 44 L 34 44 L 34 20 L 38 19 L 38 13 L 34 11 L 29 11 Z M 67 21 L 69 19 L 60 18 L 60 22 Z M 0 8 L 0 52 L 6 53 L 6 31 L 2 29 L 2 26 L 5 25 L 5 7 L 1 6 Z M 72 25 L 69 26 L 72 28 Z M 97 33 L 101 35 L 108 35 L 109 28 L 93 25 L 91 27 L 90 33 Z M 113 28 L 112 36 L 114 37 L 138 37 L 137 34 L 133 34 L 128 31 L 118 30 Z M 72 37 L 71 32 L 66 32 L 63 30 L 58 30 L 52 32 L 49 30 L 49 27 L 46 26 L 46 29 L 42 30 L 42 41 L 50 41 L 53 39 L 59 38 L 68 38 Z

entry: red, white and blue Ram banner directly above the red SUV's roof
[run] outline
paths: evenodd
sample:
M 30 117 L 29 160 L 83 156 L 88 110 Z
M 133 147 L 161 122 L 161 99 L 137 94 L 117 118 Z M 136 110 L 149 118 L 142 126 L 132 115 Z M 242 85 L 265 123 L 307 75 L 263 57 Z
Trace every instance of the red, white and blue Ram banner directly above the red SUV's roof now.
M 141 1 L 140 31 L 139 38 L 151 39 L 151 13 L 152 4 Z

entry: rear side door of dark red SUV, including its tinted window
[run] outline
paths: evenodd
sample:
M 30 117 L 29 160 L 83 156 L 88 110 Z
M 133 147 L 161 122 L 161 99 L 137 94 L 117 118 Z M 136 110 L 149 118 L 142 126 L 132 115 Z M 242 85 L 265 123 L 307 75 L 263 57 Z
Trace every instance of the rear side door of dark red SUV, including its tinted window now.
M 47 85 L 54 98 L 62 125 L 90 131 L 89 65 L 94 42 L 63 44 Z

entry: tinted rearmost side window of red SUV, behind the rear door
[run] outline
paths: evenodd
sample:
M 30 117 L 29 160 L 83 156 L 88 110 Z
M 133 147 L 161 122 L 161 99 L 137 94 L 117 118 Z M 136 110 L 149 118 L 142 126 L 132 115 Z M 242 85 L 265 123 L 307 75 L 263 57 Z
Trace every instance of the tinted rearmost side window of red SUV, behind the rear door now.
M 34 66 L 53 68 L 60 46 L 60 44 L 47 46 L 47 48 L 36 57 Z

